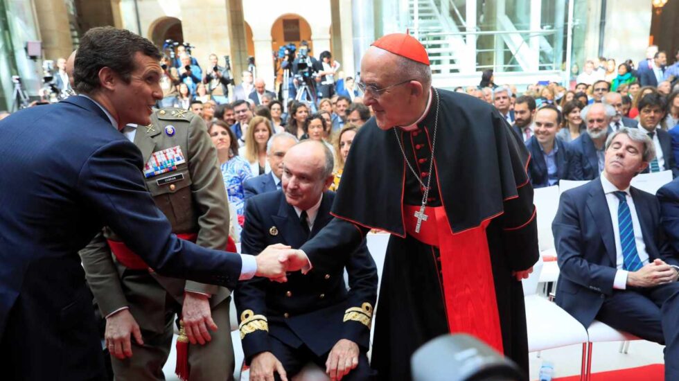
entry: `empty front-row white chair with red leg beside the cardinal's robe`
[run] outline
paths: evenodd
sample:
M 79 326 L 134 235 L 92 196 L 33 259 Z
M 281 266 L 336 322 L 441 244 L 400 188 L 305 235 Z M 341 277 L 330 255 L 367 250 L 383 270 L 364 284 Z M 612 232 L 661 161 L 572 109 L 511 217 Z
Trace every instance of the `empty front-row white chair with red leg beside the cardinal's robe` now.
M 587 356 L 587 331 L 579 321 L 562 310 L 556 303 L 536 294 L 542 267 L 543 261 L 540 258 L 538 263 L 533 266 L 533 274 L 522 281 L 526 303 L 528 351 L 539 352 L 551 348 L 582 344 L 580 379 L 583 380 Z

